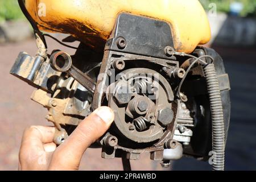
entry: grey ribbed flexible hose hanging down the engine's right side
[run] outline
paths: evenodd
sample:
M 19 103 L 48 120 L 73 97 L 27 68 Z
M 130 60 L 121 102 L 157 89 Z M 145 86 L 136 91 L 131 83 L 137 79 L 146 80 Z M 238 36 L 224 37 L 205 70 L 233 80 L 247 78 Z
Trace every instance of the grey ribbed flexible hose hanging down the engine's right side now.
M 213 170 L 223 171 L 225 162 L 224 115 L 220 87 L 218 85 L 214 64 L 206 65 L 204 67 L 204 74 L 207 80 L 210 112 L 212 115 Z

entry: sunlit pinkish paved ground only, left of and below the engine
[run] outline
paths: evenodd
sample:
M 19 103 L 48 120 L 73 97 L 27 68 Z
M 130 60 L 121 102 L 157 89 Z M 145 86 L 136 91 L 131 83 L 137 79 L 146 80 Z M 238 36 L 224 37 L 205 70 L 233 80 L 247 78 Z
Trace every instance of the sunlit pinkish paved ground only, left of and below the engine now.
M 50 47 L 60 48 L 72 53 L 72 49 L 66 49 L 63 46 L 47 40 Z M 18 169 L 18 152 L 20 140 L 25 127 L 31 125 L 51 125 L 47 123 L 44 117 L 47 110 L 42 106 L 29 100 L 34 88 L 27 85 L 9 74 L 13 61 L 20 50 L 26 48 L 26 51 L 33 55 L 36 52 L 35 40 L 28 40 L 22 43 L 6 44 L 0 46 L 0 57 L 2 67 L 0 67 L 0 76 L 3 78 L 2 84 L 5 89 L 0 93 L 0 170 Z M 13 52 L 13 53 L 10 53 Z M 18 90 L 21 92 L 18 92 Z M 139 161 L 132 161 L 131 167 L 134 170 L 163 170 L 157 162 L 148 160 L 149 154 L 142 154 Z M 81 170 L 122 170 L 121 159 L 106 160 L 101 158 L 101 149 L 90 148 L 85 152 L 80 164 Z M 168 170 L 168 169 L 166 169 Z

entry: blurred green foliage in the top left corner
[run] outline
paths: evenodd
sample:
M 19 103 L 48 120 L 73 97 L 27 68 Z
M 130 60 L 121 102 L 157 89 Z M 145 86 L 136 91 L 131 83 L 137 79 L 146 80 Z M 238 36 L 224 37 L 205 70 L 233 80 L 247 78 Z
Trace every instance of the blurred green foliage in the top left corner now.
M 0 0 L 0 22 L 24 18 L 17 0 Z

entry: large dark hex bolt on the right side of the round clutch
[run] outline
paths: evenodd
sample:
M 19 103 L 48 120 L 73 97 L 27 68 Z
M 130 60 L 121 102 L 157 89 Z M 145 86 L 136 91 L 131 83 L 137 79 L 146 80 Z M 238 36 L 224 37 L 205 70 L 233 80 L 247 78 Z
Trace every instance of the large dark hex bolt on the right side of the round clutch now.
M 172 119 L 174 119 L 174 111 L 170 107 L 158 110 L 158 121 L 162 125 L 167 126 L 172 122 Z

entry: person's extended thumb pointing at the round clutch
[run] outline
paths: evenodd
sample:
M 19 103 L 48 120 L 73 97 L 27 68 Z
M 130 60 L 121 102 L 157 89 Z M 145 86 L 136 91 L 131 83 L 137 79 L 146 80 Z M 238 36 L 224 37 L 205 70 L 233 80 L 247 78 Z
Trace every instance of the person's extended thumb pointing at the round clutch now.
M 100 138 L 114 121 L 114 112 L 106 106 L 99 107 L 80 123 L 73 133 L 55 150 L 49 169 L 79 169 L 86 148 Z

